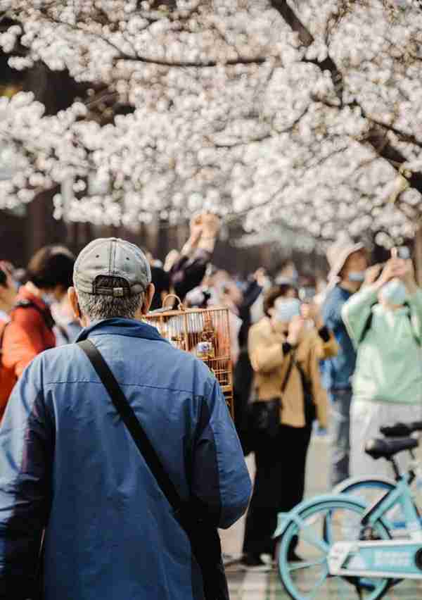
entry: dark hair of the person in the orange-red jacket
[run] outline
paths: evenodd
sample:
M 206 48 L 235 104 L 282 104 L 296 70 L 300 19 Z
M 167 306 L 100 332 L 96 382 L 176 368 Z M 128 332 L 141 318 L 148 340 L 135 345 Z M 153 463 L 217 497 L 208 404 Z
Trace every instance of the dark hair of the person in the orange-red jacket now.
M 72 285 L 75 256 L 64 246 L 44 246 L 31 258 L 28 279 L 40 289 Z

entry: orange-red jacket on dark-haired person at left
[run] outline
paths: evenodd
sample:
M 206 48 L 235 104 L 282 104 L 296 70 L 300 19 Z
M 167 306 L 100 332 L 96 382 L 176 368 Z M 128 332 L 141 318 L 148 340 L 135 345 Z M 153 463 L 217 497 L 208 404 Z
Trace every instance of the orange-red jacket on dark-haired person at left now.
M 39 312 L 49 314 L 49 307 L 45 302 L 28 292 L 25 287 L 19 290 L 17 302 L 20 301 L 29 301 L 39 310 L 34 306 L 14 308 L 11 322 L 4 332 L 3 365 L 12 370 L 16 378 L 22 375 L 25 367 L 37 354 L 56 346 L 56 336 Z

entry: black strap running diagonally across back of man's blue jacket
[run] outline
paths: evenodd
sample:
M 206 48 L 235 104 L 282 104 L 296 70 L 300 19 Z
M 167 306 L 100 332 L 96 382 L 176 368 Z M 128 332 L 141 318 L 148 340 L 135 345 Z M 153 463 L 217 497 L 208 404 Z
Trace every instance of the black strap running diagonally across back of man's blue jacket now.
M 157 480 L 162 493 L 165 495 L 167 501 L 172 506 L 174 511 L 176 513 L 180 512 L 183 503 L 177 492 L 177 489 L 174 487 L 172 480 L 170 480 L 170 477 L 163 468 L 160 458 L 158 458 L 158 455 L 153 449 L 146 432 L 144 432 L 141 423 L 139 423 L 139 419 L 136 417 L 132 406 L 130 406 L 129 402 L 125 398 L 120 385 L 117 383 L 115 376 L 108 367 L 108 364 L 101 355 L 101 352 L 89 339 L 85 339 L 83 342 L 78 342 L 77 345 L 84 351 L 89 358 L 89 361 L 91 361 L 91 365 L 96 370 L 98 377 L 106 388 L 117 413 L 120 414 L 120 417 L 132 436 L 132 439 L 134 440 L 139 452 L 150 468 L 151 473 Z

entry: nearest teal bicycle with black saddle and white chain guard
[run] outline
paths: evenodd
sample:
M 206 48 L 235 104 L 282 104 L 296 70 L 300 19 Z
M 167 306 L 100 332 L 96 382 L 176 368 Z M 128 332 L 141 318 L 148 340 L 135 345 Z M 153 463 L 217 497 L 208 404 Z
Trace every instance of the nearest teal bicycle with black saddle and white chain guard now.
M 413 501 L 415 474 L 400 474 L 395 456 L 418 446 L 414 438 L 373 439 L 366 444 L 372 458 L 385 458 L 397 482 L 373 504 L 357 496 L 331 494 L 304 501 L 279 515 L 274 534 L 281 582 L 293 600 L 338 600 L 355 592 L 377 600 L 399 581 L 422 581 L 422 525 Z M 392 539 L 386 517 L 395 506 L 404 515 L 409 539 Z M 289 562 L 291 547 L 299 562 Z

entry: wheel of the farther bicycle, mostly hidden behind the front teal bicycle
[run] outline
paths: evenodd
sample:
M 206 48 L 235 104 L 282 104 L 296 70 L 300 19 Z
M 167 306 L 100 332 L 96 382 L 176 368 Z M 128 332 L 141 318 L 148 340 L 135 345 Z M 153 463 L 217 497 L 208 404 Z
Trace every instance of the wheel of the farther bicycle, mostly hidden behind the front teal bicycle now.
M 379 500 L 385 492 L 391 492 L 392 489 L 395 489 L 394 482 L 368 477 L 361 480 L 345 480 L 335 488 L 335 492 L 356 496 L 369 506 Z M 406 518 L 401 506 L 398 504 L 390 508 L 390 511 L 383 515 L 383 523 L 390 530 L 392 537 L 409 537 L 406 528 Z

